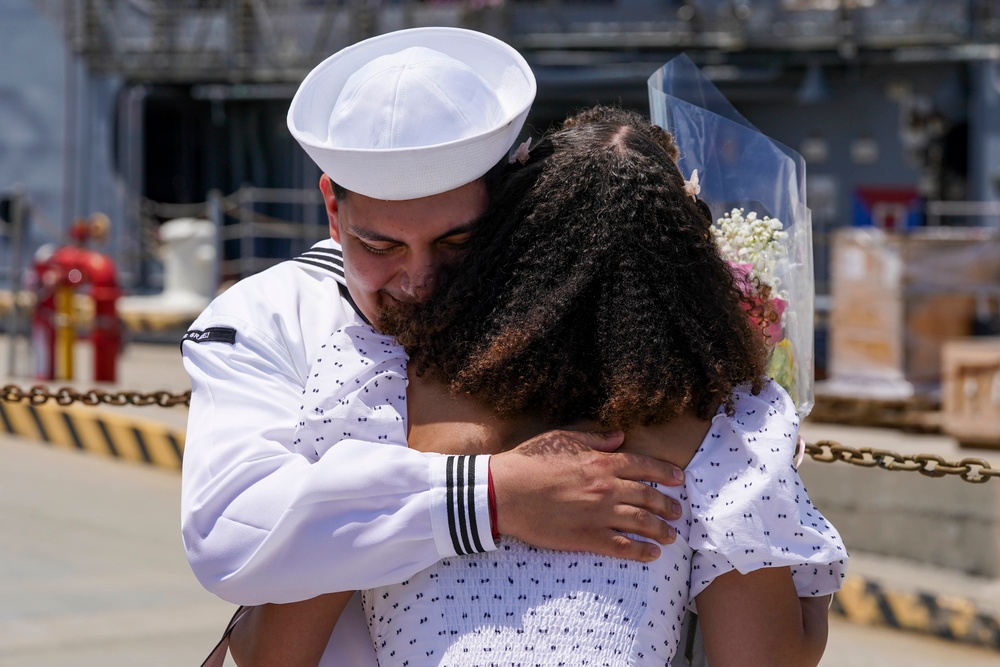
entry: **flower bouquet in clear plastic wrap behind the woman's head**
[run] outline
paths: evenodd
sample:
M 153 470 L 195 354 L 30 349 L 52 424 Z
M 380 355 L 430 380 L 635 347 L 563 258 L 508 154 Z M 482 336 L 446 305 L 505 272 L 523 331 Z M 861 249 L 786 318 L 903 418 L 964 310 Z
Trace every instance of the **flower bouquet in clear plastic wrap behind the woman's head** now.
M 685 178 L 708 204 L 734 270 L 770 288 L 761 322 L 768 374 L 802 416 L 813 407 L 812 216 L 805 161 L 746 120 L 698 67 L 680 55 L 649 78 L 652 121 L 674 135 Z M 748 281 L 749 285 L 749 281 Z

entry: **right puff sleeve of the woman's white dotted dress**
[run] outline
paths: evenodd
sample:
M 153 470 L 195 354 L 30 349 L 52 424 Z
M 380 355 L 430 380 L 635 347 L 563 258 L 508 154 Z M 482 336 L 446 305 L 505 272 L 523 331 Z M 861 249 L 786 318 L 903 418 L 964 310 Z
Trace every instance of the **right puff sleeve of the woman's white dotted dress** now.
M 687 472 L 691 598 L 730 570 L 790 566 L 800 597 L 840 588 L 847 550 L 813 506 L 794 466 L 799 420 L 775 382 L 739 391 L 713 419 Z

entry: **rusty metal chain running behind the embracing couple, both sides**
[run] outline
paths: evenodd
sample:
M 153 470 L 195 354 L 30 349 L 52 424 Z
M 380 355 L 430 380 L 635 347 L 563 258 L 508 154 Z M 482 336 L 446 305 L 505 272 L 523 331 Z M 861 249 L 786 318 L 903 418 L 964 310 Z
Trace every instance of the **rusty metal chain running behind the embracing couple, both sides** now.
M 190 405 L 191 392 L 171 393 L 169 391 L 104 391 L 88 389 L 77 391 L 71 387 L 50 390 L 36 385 L 25 391 L 17 385 L 4 385 L 0 400 L 8 403 L 27 401 L 31 405 L 41 405 L 55 401 L 59 405 L 83 403 L 84 405 L 158 405 L 170 408 L 175 405 Z M 972 484 L 984 484 L 993 478 L 1000 478 L 1000 468 L 992 467 L 978 458 L 964 458 L 948 461 L 936 454 L 900 454 L 889 449 L 872 447 L 848 447 L 832 440 L 820 440 L 806 445 L 806 454 L 821 463 L 850 463 L 862 468 L 882 468 L 883 470 L 903 470 L 919 472 L 928 477 L 957 475 Z

